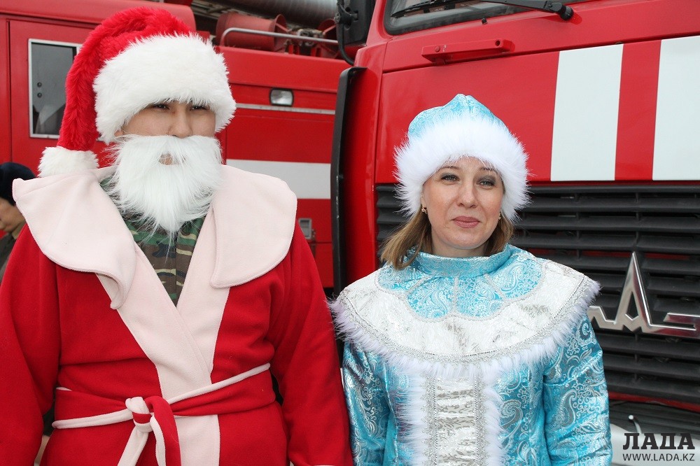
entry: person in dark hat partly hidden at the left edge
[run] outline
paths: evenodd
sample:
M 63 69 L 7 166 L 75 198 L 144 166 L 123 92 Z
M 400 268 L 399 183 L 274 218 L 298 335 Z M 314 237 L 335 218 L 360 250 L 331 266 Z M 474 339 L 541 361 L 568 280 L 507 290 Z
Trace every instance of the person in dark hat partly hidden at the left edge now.
M 12 197 L 12 183 L 17 178 L 31 180 L 34 173 L 22 164 L 5 162 L 0 164 L 0 230 L 6 234 L 0 239 L 0 281 L 5 275 L 10 253 L 20 236 L 25 218 Z

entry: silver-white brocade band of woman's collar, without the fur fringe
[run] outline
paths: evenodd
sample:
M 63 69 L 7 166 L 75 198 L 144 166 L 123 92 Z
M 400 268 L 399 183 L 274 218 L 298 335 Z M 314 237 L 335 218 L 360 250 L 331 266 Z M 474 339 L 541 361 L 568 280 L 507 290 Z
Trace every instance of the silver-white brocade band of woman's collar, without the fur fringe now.
M 545 262 L 538 286 L 487 318 L 418 316 L 403 293 L 381 288 L 377 272 L 346 288 L 344 316 L 391 353 L 447 365 L 493 362 L 544 344 L 585 310 L 596 290 L 586 276 Z

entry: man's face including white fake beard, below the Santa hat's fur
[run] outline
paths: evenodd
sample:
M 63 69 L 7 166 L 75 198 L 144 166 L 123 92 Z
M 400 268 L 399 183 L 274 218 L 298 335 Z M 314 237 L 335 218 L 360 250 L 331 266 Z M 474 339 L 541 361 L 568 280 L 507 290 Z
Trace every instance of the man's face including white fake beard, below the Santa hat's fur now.
M 177 232 L 202 218 L 221 182 L 216 115 L 179 101 L 150 105 L 117 133 L 109 195 L 124 214 Z

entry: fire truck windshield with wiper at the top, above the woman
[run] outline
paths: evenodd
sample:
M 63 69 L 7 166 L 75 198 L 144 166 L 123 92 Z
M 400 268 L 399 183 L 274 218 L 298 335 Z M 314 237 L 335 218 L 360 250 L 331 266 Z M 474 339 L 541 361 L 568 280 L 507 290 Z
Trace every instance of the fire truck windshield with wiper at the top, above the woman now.
M 527 10 L 548 11 L 568 20 L 572 10 L 565 5 L 579 1 L 586 0 L 388 0 L 384 26 L 391 34 L 403 34 Z

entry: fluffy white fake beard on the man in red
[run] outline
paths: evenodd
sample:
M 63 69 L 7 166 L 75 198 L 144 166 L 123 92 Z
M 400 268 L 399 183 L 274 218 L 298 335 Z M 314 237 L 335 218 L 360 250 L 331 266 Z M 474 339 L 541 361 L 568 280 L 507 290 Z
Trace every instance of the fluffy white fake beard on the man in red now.
M 209 210 L 221 184 L 221 146 L 206 136 L 121 136 L 107 188 L 123 216 L 174 236 Z M 171 164 L 162 164 L 170 157 Z

